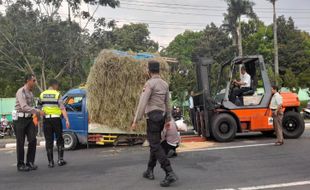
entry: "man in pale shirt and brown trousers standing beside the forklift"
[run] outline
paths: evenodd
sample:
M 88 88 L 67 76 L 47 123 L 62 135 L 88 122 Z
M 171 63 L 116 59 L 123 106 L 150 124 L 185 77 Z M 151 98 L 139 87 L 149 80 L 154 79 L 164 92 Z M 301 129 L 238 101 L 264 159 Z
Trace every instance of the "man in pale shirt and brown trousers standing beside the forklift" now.
M 277 86 L 272 86 L 272 94 L 273 96 L 270 103 L 270 109 L 272 111 L 274 130 L 277 135 L 277 142 L 275 144 L 282 145 L 284 143 L 282 132 L 282 119 L 283 119 L 282 96 L 278 92 Z

